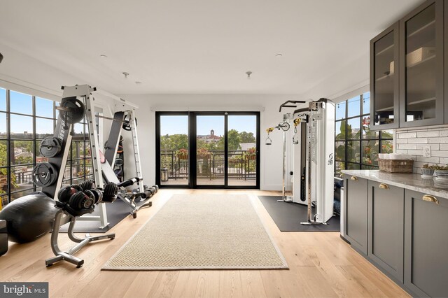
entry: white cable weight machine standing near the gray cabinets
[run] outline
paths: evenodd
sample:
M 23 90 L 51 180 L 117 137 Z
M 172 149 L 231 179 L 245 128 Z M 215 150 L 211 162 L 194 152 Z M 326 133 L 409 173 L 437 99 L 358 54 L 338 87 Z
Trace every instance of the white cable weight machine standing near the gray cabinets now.
M 296 107 L 300 101 L 286 101 L 280 106 Z M 273 129 L 283 130 L 283 202 L 306 204 L 307 221 L 302 225 L 325 225 L 333 215 L 333 156 L 335 104 L 329 99 L 309 102 L 308 108 L 283 115 L 283 121 Z M 286 196 L 286 132 L 294 125 L 293 136 L 293 195 Z M 316 212 L 312 214 L 312 208 Z

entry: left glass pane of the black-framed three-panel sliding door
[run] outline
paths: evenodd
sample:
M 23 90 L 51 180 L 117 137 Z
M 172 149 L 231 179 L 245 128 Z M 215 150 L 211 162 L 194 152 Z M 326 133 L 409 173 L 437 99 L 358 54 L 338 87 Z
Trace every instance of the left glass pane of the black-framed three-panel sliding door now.
M 189 184 L 188 115 L 160 115 L 160 185 Z

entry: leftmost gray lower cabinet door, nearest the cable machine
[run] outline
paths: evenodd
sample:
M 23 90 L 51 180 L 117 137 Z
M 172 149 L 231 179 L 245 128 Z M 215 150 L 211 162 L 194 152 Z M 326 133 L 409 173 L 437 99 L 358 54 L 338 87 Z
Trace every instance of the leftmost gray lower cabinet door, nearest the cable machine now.
M 367 179 L 344 175 L 345 232 L 351 246 L 367 255 Z

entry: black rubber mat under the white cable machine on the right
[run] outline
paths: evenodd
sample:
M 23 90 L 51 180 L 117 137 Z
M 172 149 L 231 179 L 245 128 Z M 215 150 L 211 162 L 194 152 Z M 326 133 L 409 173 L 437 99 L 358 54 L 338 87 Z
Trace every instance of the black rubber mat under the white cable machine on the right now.
M 277 201 L 281 196 L 258 196 L 281 232 L 339 232 L 340 218 L 335 215 L 328 225 L 300 225 L 307 221 L 307 206 Z M 313 213 L 314 214 L 314 213 Z

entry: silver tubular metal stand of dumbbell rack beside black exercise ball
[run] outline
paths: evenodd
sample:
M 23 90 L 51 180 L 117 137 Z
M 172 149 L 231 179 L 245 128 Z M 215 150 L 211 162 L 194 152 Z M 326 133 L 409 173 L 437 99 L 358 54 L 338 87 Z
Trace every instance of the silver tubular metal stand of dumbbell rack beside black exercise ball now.
M 51 257 L 50 259 L 45 260 L 46 267 L 52 266 L 55 262 L 59 261 L 67 261 L 71 264 L 75 264 L 76 268 L 80 268 L 84 264 L 84 260 L 80 259 L 79 257 L 75 257 L 73 254 L 78 252 L 81 248 L 87 245 L 87 243 L 93 242 L 93 241 L 99 241 L 104 239 L 115 239 L 115 233 L 106 234 L 102 236 L 90 236 L 90 234 L 85 234 L 85 238 L 78 238 L 73 234 L 73 228 L 75 227 L 76 219 L 78 216 L 82 215 L 81 213 L 78 213 L 78 215 L 73 215 L 71 212 L 69 212 L 67 209 L 69 208 L 68 205 L 62 204 L 60 202 L 57 202 L 56 207 L 59 208 L 55 215 L 55 221 L 53 222 L 53 230 L 51 234 L 51 249 L 53 253 L 55 253 L 55 257 Z M 86 210 L 83 213 L 91 213 L 93 211 L 93 208 L 90 210 Z M 69 239 L 73 242 L 76 242 L 76 246 L 73 246 L 70 250 L 67 252 L 64 252 L 59 249 L 59 246 L 57 244 L 57 238 L 59 236 L 59 228 L 61 225 L 64 225 L 65 222 L 62 222 L 63 216 L 69 217 Z

